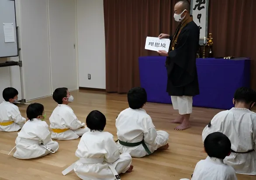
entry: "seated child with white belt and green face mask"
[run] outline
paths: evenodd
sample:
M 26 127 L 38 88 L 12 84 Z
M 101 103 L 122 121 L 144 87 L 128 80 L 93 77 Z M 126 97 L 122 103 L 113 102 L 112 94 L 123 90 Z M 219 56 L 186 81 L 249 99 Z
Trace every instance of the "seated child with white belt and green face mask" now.
M 18 133 L 15 141 L 14 157 L 32 159 L 55 153 L 59 148 L 59 143 L 52 141 L 48 124 L 44 121 L 44 106 L 39 103 L 30 104 L 27 108 L 27 117 L 28 121 Z

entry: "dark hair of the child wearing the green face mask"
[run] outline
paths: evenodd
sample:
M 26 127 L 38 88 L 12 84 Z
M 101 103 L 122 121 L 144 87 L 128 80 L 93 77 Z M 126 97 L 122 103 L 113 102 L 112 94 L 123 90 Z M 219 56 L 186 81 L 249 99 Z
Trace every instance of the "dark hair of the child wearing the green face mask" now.
M 28 120 L 33 120 L 38 118 L 38 116 L 42 116 L 44 112 L 44 106 L 39 103 L 32 103 L 28 105 L 27 108 L 27 117 Z

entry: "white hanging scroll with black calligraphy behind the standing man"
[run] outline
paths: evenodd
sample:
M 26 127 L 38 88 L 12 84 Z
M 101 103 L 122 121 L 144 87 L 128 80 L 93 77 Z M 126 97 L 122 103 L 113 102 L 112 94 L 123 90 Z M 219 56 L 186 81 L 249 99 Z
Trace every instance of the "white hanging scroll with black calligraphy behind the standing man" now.
M 208 0 L 191 0 L 193 20 L 200 28 L 200 39 L 207 37 Z

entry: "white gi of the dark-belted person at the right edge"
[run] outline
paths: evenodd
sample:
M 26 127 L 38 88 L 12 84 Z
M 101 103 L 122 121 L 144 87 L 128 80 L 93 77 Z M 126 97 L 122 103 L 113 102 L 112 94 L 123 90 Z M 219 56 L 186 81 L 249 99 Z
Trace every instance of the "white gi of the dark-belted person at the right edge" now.
M 225 110 L 211 120 L 211 127 L 206 126 L 202 133 L 203 141 L 213 132 L 224 133 L 231 141 L 231 153 L 224 162 L 235 169 L 236 173 L 256 175 L 256 113 L 241 108 Z

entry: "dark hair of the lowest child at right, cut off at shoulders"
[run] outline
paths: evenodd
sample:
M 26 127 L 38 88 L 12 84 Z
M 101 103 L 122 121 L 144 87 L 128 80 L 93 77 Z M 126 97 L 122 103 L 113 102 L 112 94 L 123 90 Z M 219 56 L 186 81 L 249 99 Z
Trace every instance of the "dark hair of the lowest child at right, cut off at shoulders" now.
M 223 160 L 231 152 L 231 142 L 225 134 L 214 132 L 205 138 L 204 150 L 209 157 L 216 157 Z

